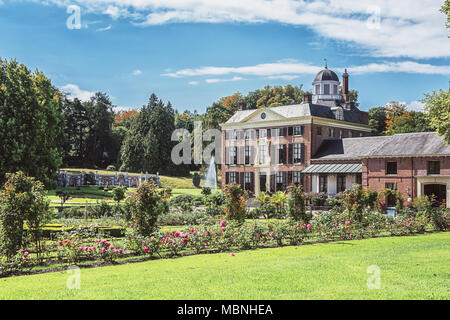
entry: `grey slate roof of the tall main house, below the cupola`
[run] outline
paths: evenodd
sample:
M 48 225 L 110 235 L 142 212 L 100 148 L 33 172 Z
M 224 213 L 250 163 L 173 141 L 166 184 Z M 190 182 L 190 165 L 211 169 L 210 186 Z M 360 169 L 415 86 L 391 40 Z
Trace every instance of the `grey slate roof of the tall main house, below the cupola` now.
M 314 116 L 320 118 L 336 119 L 333 110 L 329 106 L 324 106 L 314 103 L 301 103 L 288 106 L 280 106 L 273 108 L 266 108 L 285 118 L 298 118 Z M 257 112 L 259 109 L 237 111 L 228 121 L 227 124 L 238 123 Z M 344 121 L 365 124 L 358 109 L 346 110 L 344 109 Z

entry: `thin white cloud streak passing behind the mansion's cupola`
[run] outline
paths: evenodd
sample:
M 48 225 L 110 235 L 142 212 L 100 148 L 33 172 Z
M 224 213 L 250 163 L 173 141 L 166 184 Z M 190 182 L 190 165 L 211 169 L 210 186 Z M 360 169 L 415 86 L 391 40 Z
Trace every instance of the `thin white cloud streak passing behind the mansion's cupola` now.
M 274 63 L 257 64 L 241 67 L 217 67 L 207 66 L 195 69 L 181 69 L 174 72 L 164 73 L 162 76 L 183 78 L 200 76 L 225 76 L 239 74 L 247 76 L 262 76 L 269 79 L 292 80 L 300 75 L 315 75 L 323 67 L 313 66 L 296 60 L 282 60 Z M 331 68 L 335 72 L 344 72 L 345 68 Z M 414 61 L 371 63 L 361 66 L 350 66 L 347 68 L 351 74 L 367 74 L 379 72 L 401 72 L 416 74 L 450 75 L 450 66 L 436 66 L 431 64 L 417 63 Z M 242 80 L 242 79 L 238 79 Z M 207 82 L 220 82 L 226 79 L 208 79 Z M 236 81 L 236 80 L 234 80 Z

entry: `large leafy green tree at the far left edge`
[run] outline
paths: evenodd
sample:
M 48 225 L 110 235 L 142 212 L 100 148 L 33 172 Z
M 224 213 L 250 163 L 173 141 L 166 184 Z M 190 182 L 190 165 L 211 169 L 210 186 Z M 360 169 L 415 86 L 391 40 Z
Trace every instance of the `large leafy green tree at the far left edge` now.
M 22 170 L 46 186 L 62 163 L 62 99 L 50 79 L 0 58 L 0 182 Z

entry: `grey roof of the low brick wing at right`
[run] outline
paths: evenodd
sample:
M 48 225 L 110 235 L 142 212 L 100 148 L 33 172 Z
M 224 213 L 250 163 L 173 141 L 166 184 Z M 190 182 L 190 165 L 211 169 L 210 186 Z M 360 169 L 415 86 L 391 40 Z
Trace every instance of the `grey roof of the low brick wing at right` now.
M 393 136 L 327 139 L 313 160 L 354 160 L 361 157 L 450 155 L 450 146 L 434 132 Z

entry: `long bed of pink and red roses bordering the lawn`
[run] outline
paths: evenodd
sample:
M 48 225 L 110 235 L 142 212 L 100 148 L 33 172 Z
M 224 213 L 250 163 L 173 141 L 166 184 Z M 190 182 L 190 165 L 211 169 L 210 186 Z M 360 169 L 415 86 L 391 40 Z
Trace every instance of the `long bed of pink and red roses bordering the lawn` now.
M 442 211 L 439 217 L 449 229 L 450 217 Z M 318 241 L 355 240 L 379 236 L 406 236 L 437 231 L 436 224 L 422 216 L 391 218 L 377 212 L 366 212 L 360 221 L 345 213 L 326 212 L 308 223 L 291 219 L 252 220 L 239 223 L 222 220 L 183 230 L 156 231 L 148 236 L 135 232 L 124 240 L 101 237 L 98 230 L 79 228 L 65 230 L 50 241 L 39 259 L 33 250 L 20 250 L 11 261 L 0 264 L 0 275 L 17 274 L 37 265 L 93 261 L 113 263 L 124 257 L 175 257 L 220 251 L 300 245 Z

